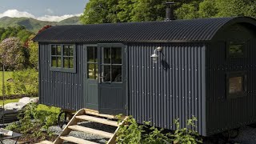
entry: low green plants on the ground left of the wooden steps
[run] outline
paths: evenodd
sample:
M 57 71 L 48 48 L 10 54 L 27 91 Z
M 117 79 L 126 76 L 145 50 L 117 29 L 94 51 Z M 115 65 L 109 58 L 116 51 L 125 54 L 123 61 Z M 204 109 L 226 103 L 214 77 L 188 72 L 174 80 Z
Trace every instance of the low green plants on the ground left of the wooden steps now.
M 58 122 L 59 112 L 60 109 L 56 107 L 31 103 L 19 114 L 19 121 L 6 126 L 6 129 L 22 133 L 25 137 L 34 138 L 35 141 L 38 138 L 46 139 L 51 136 L 48 128 Z

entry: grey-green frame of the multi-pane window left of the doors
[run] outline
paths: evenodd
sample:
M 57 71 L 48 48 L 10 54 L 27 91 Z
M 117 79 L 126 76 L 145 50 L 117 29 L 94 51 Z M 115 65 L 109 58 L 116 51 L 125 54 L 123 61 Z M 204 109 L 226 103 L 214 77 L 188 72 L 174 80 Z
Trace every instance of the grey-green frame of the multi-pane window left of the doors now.
M 54 67 L 52 66 L 52 55 L 51 55 L 51 48 L 54 45 L 60 45 L 61 46 L 61 67 Z M 66 68 L 64 67 L 64 46 L 69 45 L 69 46 L 74 46 L 74 50 L 73 50 L 73 68 Z M 76 65 L 77 65 L 77 61 L 76 61 L 76 49 L 77 46 L 74 43 L 52 43 L 50 44 L 50 70 L 51 71 L 59 71 L 59 72 L 67 72 L 67 73 L 76 73 Z

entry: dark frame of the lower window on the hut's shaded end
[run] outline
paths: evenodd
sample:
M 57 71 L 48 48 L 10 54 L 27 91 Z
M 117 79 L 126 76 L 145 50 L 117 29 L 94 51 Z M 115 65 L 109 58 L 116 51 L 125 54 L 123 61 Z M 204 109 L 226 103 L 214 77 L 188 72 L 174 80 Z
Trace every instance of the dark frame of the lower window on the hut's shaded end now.
M 230 94 L 230 78 L 242 77 L 242 91 Z M 245 71 L 228 72 L 226 74 L 226 99 L 241 98 L 247 94 L 247 75 Z

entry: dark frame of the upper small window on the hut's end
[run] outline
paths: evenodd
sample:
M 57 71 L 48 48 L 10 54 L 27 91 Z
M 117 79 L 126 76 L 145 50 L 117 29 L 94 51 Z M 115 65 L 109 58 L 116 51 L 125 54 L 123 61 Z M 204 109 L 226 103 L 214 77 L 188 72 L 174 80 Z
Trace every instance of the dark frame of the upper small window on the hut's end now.
M 234 42 L 235 44 L 242 44 L 243 53 L 242 54 L 230 54 L 230 43 Z M 228 40 L 226 42 L 226 57 L 227 58 L 246 58 L 246 41 L 243 40 Z

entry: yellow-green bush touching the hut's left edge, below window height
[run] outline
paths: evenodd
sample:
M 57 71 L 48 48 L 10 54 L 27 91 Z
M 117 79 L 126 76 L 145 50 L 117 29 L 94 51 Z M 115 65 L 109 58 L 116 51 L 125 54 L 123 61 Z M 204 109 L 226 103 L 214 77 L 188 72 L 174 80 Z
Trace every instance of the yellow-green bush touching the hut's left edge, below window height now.
M 38 96 L 38 71 L 27 69 L 14 71 L 13 82 L 7 82 L 7 94 L 13 89 L 15 94 L 30 94 Z

